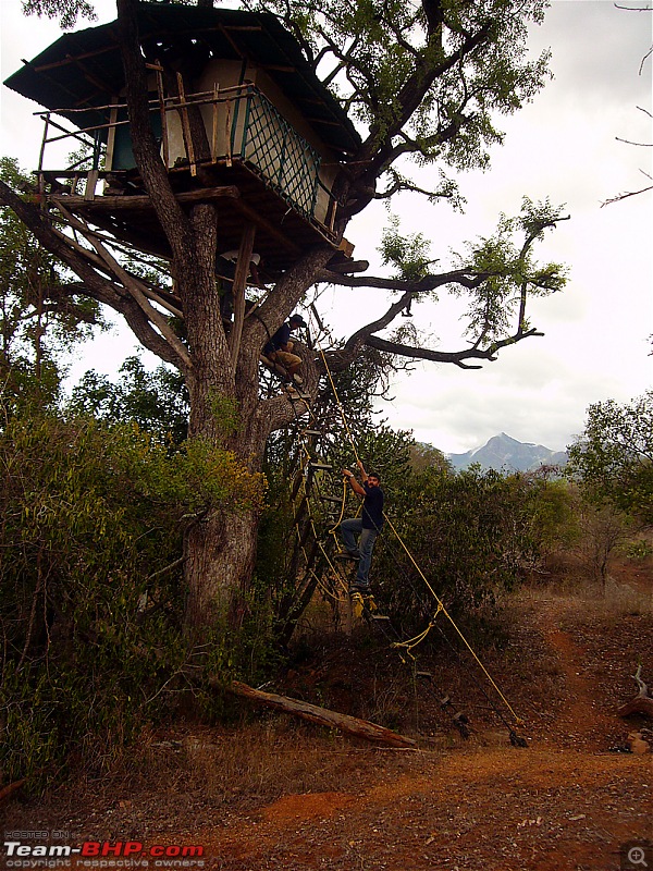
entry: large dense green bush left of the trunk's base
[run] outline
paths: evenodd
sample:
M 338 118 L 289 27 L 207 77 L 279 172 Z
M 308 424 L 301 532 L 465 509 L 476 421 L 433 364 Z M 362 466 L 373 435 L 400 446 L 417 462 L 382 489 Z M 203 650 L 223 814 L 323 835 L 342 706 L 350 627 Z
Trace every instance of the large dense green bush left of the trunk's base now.
M 101 768 L 197 685 L 183 530 L 260 504 L 260 476 L 201 441 L 171 455 L 134 425 L 27 415 L 0 431 L 0 475 L 1 764 Z

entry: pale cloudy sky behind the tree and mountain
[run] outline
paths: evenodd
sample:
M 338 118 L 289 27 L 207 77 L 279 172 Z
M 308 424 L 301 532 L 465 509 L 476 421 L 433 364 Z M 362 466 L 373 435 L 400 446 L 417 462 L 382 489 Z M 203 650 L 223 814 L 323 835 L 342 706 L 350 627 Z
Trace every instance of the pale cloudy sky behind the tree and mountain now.
M 96 9 L 98 23 L 115 16 L 108 0 Z M 56 22 L 22 17 L 19 0 L 0 0 L 0 28 L 2 79 L 60 34 Z M 557 451 L 581 433 L 591 403 L 627 403 L 653 387 L 653 194 L 602 207 L 651 183 L 643 173 L 653 174 L 653 148 L 617 137 L 653 143 L 652 59 L 640 71 L 652 42 L 651 12 L 605 0 L 553 0 L 529 48 L 534 54 L 551 49 L 554 79 L 517 115 L 501 119 L 506 137 L 491 151 L 491 169 L 458 179 L 465 213 L 410 195 L 393 205 L 402 229 L 429 238 L 431 256 L 445 266 L 465 241 L 492 234 L 501 212 L 518 213 L 525 195 L 566 204 L 570 220 L 547 235 L 538 257 L 566 263 L 569 281 L 531 307 L 543 338 L 504 349 L 482 369 L 416 364 L 393 382 L 393 401 L 382 403 L 380 418 L 447 453 L 479 447 L 498 432 Z M 36 109 L 2 87 L 0 154 L 17 157 L 24 169 L 38 160 Z M 428 171 L 416 179 L 427 186 Z M 378 205 L 347 229 L 356 258 L 369 260 L 372 274 L 382 274 L 378 246 L 386 223 Z M 382 314 L 387 299 L 379 291 L 337 289 L 319 306 L 334 333 L 348 335 Z M 442 296 L 414 311 L 432 347 L 466 346 L 459 304 Z M 137 348 L 128 330 L 115 330 L 77 353 L 72 378 L 87 368 L 112 373 Z

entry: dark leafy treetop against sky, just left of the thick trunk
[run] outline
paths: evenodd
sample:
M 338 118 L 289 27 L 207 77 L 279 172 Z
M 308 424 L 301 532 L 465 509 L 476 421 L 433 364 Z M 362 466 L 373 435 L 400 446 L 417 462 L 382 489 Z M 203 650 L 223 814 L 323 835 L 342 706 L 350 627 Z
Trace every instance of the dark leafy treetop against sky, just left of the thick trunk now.
M 132 422 L 180 445 L 188 432 L 188 392 L 183 377 L 167 366 L 147 371 L 138 357 L 127 357 L 120 379 L 87 371 L 73 388 L 67 412 L 104 424 Z

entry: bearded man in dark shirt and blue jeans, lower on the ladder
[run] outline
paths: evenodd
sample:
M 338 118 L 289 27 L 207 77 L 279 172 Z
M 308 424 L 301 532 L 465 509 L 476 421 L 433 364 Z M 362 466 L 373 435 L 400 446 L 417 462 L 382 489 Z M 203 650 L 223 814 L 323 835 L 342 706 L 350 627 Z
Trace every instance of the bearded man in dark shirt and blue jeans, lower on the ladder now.
M 352 592 L 367 593 L 370 591 L 369 574 L 372 551 L 377 537 L 383 528 L 383 490 L 379 486 L 379 476 L 375 471 L 370 471 L 368 475 L 360 459 L 357 465 L 362 483 L 359 483 L 348 469 L 343 469 L 343 475 L 349 480 L 352 490 L 359 496 L 365 496 L 362 512 L 360 517 L 343 520 L 341 531 L 347 552 L 345 555 L 359 561 Z M 358 544 L 356 536 L 359 536 Z

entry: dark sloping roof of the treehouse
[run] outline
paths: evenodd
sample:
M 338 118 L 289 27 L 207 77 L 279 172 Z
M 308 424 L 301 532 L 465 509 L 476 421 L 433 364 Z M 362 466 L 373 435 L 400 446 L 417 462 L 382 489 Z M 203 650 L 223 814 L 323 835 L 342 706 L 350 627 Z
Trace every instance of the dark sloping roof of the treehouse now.
M 346 112 L 274 15 L 140 3 L 138 26 L 148 62 L 182 53 L 198 63 L 211 58 L 249 61 L 266 70 L 326 145 L 342 154 L 360 145 Z M 116 22 L 64 34 L 24 63 L 4 84 L 47 109 L 63 110 L 60 114 L 79 128 L 106 122 L 107 110 L 93 107 L 106 107 L 124 84 Z M 65 111 L 85 108 L 88 111 Z

